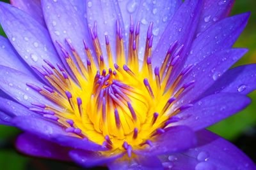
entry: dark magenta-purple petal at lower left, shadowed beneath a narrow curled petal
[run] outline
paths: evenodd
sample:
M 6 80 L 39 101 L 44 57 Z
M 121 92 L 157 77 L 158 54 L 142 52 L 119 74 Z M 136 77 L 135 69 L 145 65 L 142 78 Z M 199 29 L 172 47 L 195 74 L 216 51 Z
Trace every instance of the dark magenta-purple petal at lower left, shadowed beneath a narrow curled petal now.
M 17 150 L 27 155 L 65 161 L 71 160 L 68 156 L 70 148 L 65 148 L 57 143 L 38 138 L 38 136 L 33 134 L 20 134 L 15 145 Z

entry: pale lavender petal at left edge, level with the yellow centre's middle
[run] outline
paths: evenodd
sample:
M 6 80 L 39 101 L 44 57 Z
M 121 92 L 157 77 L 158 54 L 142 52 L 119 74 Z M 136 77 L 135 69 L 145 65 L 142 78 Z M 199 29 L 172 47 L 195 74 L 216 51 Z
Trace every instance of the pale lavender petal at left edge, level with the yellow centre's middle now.
M 39 92 L 26 85 L 26 83 L 33 83 L 38 87 L 43 87 L 43 84 L 35 80 L 35 78 L 31 78 L 20 71 L 6 66 L 0 66 L 0 77 L 0 89 L 18 103 L 27 107 L 31 107 L 32 102 L 56 106 L 56 104 L 51 103 L 51 101 L 43 97 Z

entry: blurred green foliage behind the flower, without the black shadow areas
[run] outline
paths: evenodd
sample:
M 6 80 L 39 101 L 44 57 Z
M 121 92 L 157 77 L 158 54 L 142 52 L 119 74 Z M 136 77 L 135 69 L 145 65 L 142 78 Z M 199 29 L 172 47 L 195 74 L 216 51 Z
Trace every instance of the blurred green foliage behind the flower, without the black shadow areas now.
M 3 0 L 0 0 L 3 1 Z M 4 2 L 9 2 L 5 0 Z M 244 57 L 235 64 L 235 66 L 241 66 L 244 64 L 256 63 L 256 12 L 255 12 L 256 1 L 255 0 L 243 0 L 236 1 L 234 8 L 230 15 L 236 15 L 238 13 L 243 13 L 246 11 L 252 11 L 251 17 L 248 21 L 248 25 L 244 29 L 243 33 L 237 40 L 234 47 L 249 48 L 250 51 L 244 55 Z M 0 26 L 0 34 L 6 36 L 3 29 Z M 212 132 L 223 136 L 226 139 L 235 140 L 244 131 L 248 131 L 250 127 L 256 123 L 256 91 L 248 95 L 252 99 L 252 104 L 248 106 L 245 110 L 227 118 L 218 124 L 212 125 L 208 129 Z M 12 169 L 27 169 L 28 162 L 35 161 L 35 159 L 29 159 L 24 157 L 13 150 L 13 145 L 15 141 L 15 136 L 20 133 L 20 130 L 15 127 L 9 127 L 0 125 L 0 165 L 1 169 L 12 170 Z M 38 160 L 39 161 L 39 160 Z M 61 163 L 56 164 L 57 167 Z M 65 165 L 67 166 L 67 165 Z M 31 169 L 31 168 L 29 168 Z M 33 168 L 32 168 L 33 169 Z M 51 169 L 51 168 L 47 168 Z M 68 169 L 68 166 L 67 166 Z M 70 167 L 70 169 L 73 169 Z M 76 169 L 74 167 L 74 169 Z

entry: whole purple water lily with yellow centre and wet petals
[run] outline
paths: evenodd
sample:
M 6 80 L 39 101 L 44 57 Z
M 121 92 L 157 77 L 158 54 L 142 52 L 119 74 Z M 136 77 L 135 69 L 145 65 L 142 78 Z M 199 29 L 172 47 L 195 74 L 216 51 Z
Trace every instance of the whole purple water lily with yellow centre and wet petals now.
M 255 169 L 204 129 L 256 87 L 255 64 L 228 69 L 250 15 L 233 3 L 0 3 L 0 123 L 21 152 L 83 167 Z

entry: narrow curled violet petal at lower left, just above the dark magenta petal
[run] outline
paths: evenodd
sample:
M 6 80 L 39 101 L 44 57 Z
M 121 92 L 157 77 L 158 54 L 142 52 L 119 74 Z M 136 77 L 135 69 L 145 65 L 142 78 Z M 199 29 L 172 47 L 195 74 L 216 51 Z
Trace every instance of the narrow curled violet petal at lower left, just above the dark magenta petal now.
M 15 127 L 19 127 L 23 131 L 31 132 L 47 141 L 58 143 L 61 146 L 67 146 L 75 149 L 104 151 L 107 150 L 97 143 L 88 141 L 88 139 L 67 136 L 63 128 L 49 120 L 36 117 L 15 117 L 12 120 Z

